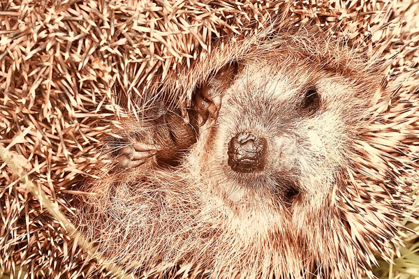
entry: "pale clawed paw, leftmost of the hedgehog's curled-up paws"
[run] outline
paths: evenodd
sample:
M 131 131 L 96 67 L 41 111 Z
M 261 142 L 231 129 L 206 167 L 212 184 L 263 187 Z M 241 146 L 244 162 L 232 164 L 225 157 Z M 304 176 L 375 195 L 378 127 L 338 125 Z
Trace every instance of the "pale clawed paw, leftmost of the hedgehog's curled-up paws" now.
M 160 149 L 161 146 L 157 144 L 144 144 L 140 142 L 125 146 L 119 151 L 118 167 L 139 167 L 155 156 Z

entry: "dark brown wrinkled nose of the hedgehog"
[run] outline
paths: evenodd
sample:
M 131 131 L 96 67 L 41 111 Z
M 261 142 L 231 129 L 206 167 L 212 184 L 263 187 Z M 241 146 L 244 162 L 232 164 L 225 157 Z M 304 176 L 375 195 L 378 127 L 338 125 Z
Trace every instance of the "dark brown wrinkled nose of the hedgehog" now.
M 235 172 L 260 172 L 265 166 L 266 140 L 242 132 L 230 140 L 228 165 Z

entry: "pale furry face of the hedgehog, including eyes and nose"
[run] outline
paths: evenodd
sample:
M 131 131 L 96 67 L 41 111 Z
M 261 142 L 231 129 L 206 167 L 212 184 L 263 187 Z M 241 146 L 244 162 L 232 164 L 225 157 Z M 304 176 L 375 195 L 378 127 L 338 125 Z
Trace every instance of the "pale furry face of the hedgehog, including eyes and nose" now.
M 344 77 L 305 61 L 245 64 L 228 89 L 210 90 L 222 104 L 203 129 L 202 179 L 230 208 L 304 220 L 324 206 L 346 164 L 354 94 Z

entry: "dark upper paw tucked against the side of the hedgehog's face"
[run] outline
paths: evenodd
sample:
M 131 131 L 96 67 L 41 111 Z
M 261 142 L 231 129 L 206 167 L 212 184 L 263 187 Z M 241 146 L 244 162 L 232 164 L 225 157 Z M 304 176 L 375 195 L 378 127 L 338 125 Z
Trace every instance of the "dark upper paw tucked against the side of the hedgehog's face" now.
M 207 119 L 215 121 L 221 107 L 221 98 L 225 91 L 233 84 L 240 72 L 240 64 L 230 62 L 220 68 L 208 79 L 195 93 L 195 105 L 198 107 L 198 114 L 202 116 L 200 126 L 203 126 Z

